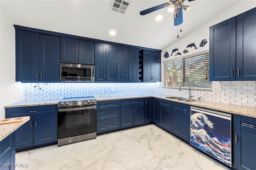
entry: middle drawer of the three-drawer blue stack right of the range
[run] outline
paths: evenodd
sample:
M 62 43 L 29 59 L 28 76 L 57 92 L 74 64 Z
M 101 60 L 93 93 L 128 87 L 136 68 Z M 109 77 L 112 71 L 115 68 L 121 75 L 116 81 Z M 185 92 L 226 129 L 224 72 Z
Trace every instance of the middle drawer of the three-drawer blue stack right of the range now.
M 97 121 L 120 118 L 120 108 L 97 111 Z

